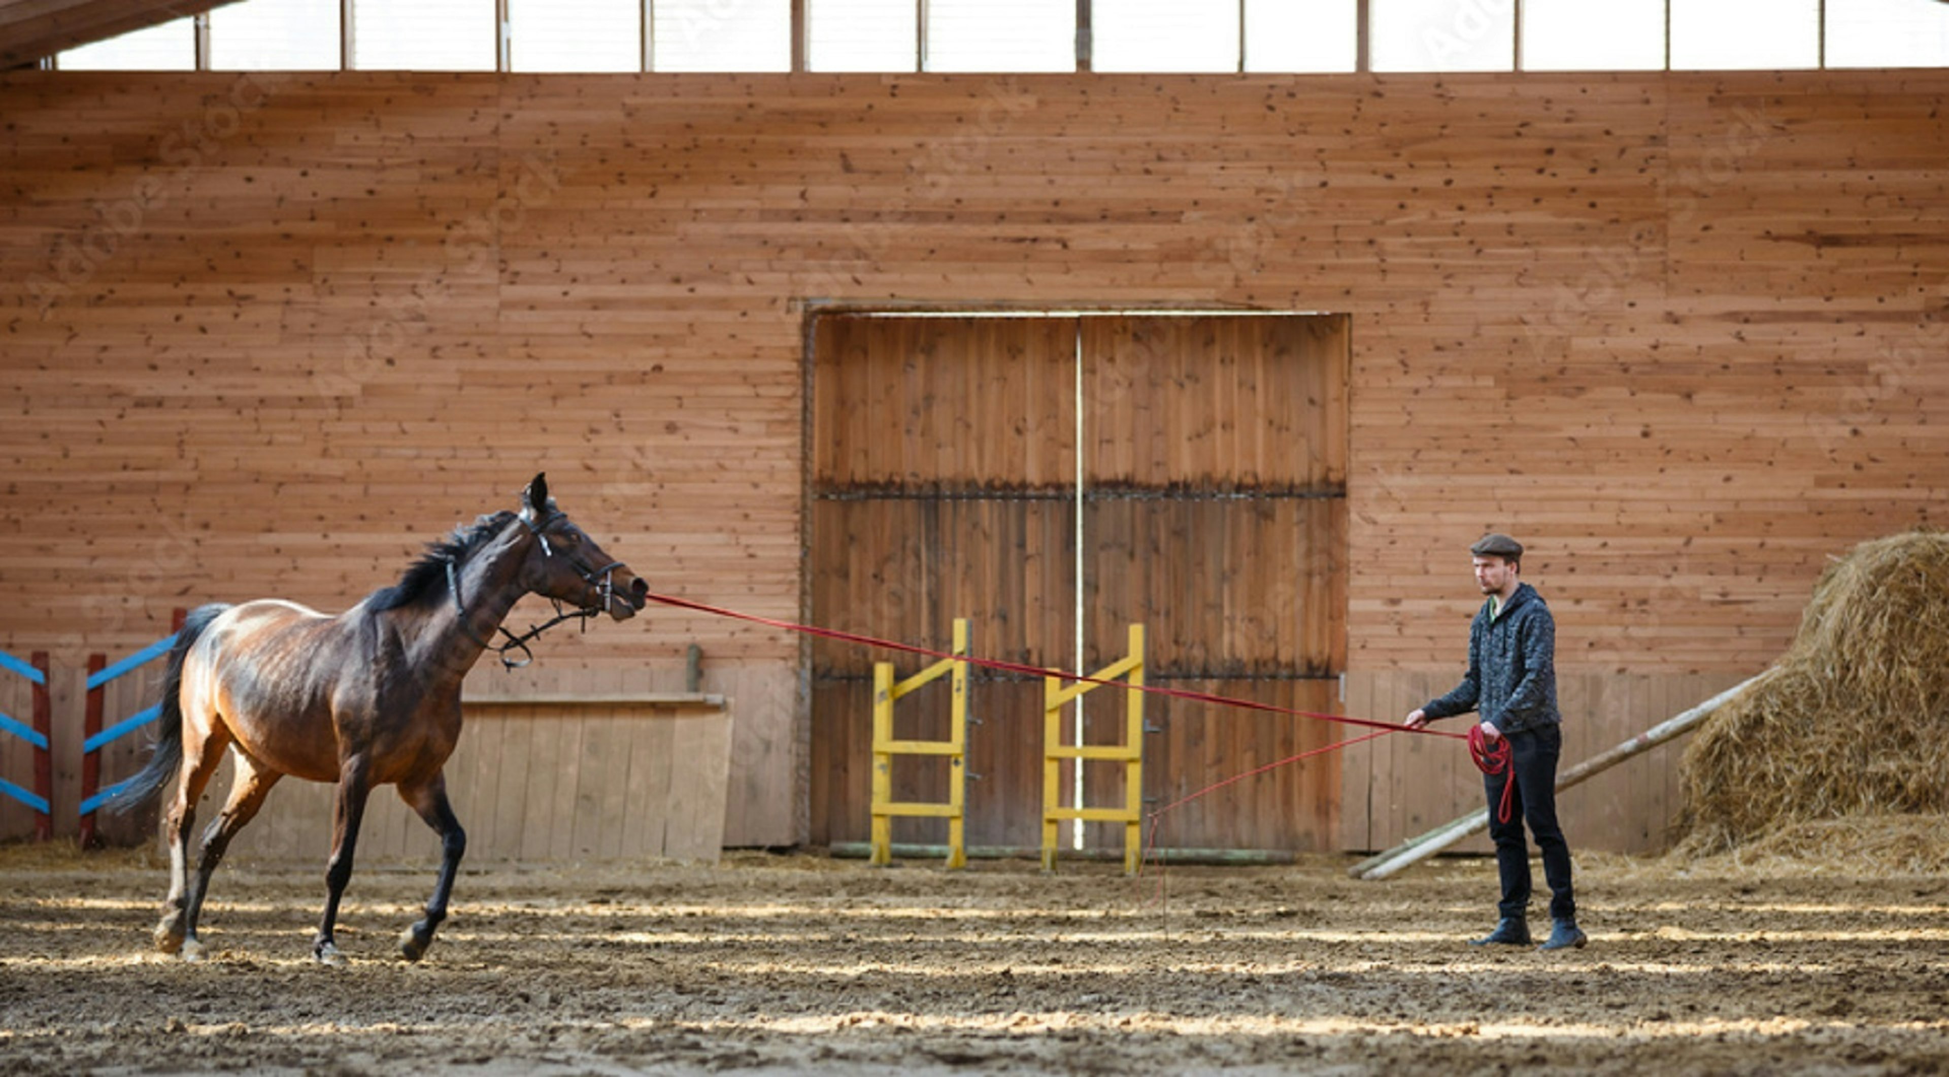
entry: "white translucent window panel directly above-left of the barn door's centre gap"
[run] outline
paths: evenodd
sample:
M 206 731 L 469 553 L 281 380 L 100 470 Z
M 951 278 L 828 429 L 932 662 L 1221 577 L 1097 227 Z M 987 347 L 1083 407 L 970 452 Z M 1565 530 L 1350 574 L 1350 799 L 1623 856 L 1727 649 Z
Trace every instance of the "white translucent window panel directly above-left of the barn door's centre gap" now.
M 1076 0 L 922 0 L 926 70 L 1072 72 Z

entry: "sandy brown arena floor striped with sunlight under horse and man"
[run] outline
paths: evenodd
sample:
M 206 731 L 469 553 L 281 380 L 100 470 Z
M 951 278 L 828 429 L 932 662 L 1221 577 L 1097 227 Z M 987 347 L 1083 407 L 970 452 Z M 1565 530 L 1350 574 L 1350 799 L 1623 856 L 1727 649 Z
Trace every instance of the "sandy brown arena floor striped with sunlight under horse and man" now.
M 1949 1073 L 1949 876 L 1588 857 L 1592 943 L 1483 952 L 1495 869 L 226 867 L 210 960 L 146 855 L 0 849 L 0 1073 Z

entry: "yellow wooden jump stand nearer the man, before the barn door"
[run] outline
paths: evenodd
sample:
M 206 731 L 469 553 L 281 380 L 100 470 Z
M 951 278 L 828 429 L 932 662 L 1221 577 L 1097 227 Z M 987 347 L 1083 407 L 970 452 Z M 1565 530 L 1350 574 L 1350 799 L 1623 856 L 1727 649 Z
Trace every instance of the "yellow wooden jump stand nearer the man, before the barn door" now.
M 1056 837 L 1062 820 L 1121 822 L 1123 871 L 1136 874 L 1144 855 L 1144 625 L 1130 625 L 1130 652 L 1095 674 L 1095 680 L 1125 678 L 1123 744 L 1064 744 L 1062 707 L 1082 693 L 1103 687 L 1089 682 L 1043 680 L 1043 871 L 1056 871 Z M 1062 760 L 1123 760 L 1123 806 L 1089 808 L 1062 804 Z

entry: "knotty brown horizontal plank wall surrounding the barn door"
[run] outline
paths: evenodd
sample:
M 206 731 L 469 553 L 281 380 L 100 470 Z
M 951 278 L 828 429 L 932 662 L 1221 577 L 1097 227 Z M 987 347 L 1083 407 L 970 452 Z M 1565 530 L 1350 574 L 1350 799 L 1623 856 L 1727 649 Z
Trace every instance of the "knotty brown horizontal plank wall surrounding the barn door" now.
M 1351 317 L 1351 674 L 1454 670 L 1495 526 L 1567 670 L 1690 699 L 1783 649 L 1828 557 L 1941 522 L 1945 97 L 8 72 L 0 647 L 343 608 L 544 467 L 659 590 L 791 617 L 807 300 L 1187 302 Z M 729 839 L 799 839 L 797 641 L 653 612 L 544 662 L 674 689 L 692 641 L 739 699 Z

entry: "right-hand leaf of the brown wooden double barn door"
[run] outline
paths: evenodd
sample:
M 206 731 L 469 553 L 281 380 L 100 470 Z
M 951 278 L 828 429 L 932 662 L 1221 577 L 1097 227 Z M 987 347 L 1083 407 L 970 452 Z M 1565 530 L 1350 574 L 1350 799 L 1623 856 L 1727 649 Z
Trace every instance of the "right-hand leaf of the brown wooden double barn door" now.
M 1148 625 L 1148 682 L 1337 713 L 1347 658 L 1347 319 L 1091 317 L 1084 356 L 1084 617 L 1089 668 Z M 1097 693 L 1105 695 L 1105 693 Z M 1086 697 L 1088 699 L 1088 697 Z M 1093 699 L 1091 740 L 1121 705 Z M 1156 810 L 1341 726 L 1150 697 Z M 1279 767 L 1162 816 L 1158 843 L 1331 849 L 1337 758 Z M 1086 795 L 1121 795 L 1113 767 Z M 1121 834 L 1095 828 L 1091 845 Z

